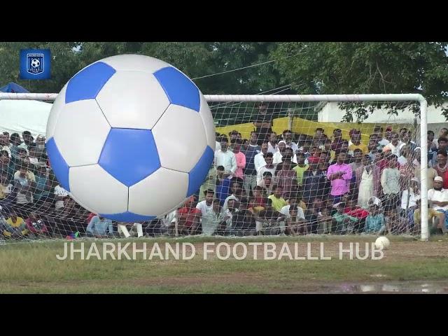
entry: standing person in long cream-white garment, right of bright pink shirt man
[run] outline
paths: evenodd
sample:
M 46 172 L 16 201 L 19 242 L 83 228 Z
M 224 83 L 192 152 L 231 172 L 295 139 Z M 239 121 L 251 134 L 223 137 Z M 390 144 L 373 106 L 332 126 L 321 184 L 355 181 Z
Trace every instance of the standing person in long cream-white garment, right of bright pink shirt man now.
M 377 197 L 381 190 L 381 172 L 379 167 L 370 161 L 368 155 L 364 155 L 362 164 L 355 171 L 358 206 L 367 209 L 370 198 Z

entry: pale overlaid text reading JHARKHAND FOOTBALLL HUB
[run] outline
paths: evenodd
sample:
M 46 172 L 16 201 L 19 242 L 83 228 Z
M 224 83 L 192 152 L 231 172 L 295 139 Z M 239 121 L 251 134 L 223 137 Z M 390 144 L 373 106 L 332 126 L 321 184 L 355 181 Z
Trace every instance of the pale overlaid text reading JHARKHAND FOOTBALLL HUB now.
M 199 248 L 188 242 L 64 243 L 57 260 L 381 260 L 383 248 L 369 242 L 339 242 L 336 253 L 325 252 L 325 243 L 204 242 Z M 334 249 L 334 248 L 333 248 Z

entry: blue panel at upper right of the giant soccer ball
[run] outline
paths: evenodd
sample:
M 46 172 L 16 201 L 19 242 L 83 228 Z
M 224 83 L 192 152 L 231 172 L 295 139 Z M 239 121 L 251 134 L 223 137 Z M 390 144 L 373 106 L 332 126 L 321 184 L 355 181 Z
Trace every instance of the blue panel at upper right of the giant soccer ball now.
M 190 78 L 172 66 L 155 71 L 154 76 L 165 90 L 169 102 L 199 112 L 199 89 Z

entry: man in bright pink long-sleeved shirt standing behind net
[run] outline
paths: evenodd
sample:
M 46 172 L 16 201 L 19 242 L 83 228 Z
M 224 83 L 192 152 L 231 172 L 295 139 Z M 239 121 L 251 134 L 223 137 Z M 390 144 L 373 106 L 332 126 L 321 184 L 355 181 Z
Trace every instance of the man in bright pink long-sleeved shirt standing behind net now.
M 327 178 L 331 181 L 330 195 L 333 204 L 340 202 L 342 195 L 349 192 L 351 180 L 351 167 L 344 163 L 346 152 L 342 151 L 337 155 L 335 165 L 328 167 Z

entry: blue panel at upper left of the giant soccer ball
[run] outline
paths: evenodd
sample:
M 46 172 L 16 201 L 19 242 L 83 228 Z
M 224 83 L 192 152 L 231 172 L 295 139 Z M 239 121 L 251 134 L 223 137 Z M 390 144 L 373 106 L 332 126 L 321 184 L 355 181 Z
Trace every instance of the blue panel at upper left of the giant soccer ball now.
M 87 66 L 69 80 L 65 93 L 65 103 L 94 99 L 113 73 L 116 73 L 115 69 L 103 62 Z

